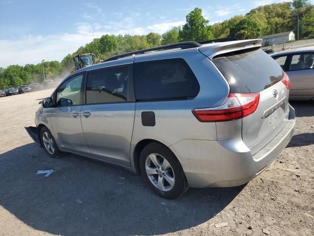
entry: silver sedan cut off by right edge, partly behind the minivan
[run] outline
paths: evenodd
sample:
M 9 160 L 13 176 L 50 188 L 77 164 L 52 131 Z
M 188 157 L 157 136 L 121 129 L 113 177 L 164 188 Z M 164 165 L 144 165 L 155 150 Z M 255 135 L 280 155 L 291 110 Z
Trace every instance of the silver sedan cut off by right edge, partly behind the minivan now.
M 314 47 L 287 50 L 271 55 L 290 79 L 291 100 L 314 100 Z

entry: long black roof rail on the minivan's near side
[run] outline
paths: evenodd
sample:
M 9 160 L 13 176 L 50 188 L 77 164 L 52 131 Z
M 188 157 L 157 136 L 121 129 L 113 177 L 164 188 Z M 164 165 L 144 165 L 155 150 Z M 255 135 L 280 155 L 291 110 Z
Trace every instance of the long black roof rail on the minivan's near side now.
M 116 59 L 120 59 L 120 58 L 125 58 L 125 57 L 129 57 L 132 55 L 141 55 L 144 53 L 149 53 L 149 52 L 154 52 L 154 51 L 163 51 L 163 50 L 170 50 L 170 49 L 177 49 L 177 48 L 188 49 L 188 48 L 197 48 L 200 46 L 202 46 L 200 43 L 193 42 L 193 41 L 182 42 L 182 43 L 173 43 L 173 44 L 163 45 L 163 46 L 159 46 L 159 47 L 155 47 L 155 48 L 148 48 L 148 49 L 138 50 L 138 51 L 134 51 L 134 52 L 130 52 L 130 53 L 120 54 L 117 56 L 107 58 L 104 60 L 104 62 L 116 60 Z

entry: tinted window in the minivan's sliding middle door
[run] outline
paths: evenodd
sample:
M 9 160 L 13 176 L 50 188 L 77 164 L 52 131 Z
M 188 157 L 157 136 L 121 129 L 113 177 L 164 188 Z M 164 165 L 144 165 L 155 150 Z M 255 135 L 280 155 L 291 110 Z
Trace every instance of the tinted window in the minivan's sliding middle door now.
M 114 67 L 88 73 L 86 104 L 127 101 L 130 67 Z

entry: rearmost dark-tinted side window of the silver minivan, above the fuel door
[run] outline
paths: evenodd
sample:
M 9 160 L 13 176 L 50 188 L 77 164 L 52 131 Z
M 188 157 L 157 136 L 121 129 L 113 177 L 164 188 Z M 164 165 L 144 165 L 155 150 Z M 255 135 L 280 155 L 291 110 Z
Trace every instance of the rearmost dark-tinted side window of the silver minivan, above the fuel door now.
M 183 59 L 136 62 L 133 71 L 137 100 L 192 99 L 200 90 Z

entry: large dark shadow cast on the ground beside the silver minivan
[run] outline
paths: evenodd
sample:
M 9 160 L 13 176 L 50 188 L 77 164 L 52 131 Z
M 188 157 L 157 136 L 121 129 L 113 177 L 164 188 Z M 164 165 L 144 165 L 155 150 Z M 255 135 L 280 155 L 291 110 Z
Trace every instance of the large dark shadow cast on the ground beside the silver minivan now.
M 55 172 L 50 177 L 38 170 Z M 36 144 L 0 154 L 0 205 L 34 229 L 56 235 L 155 235 L 196 227 L 244 186 L 190 189 L 165 200 L 137 175 L 73 154 L 50 158 Z

